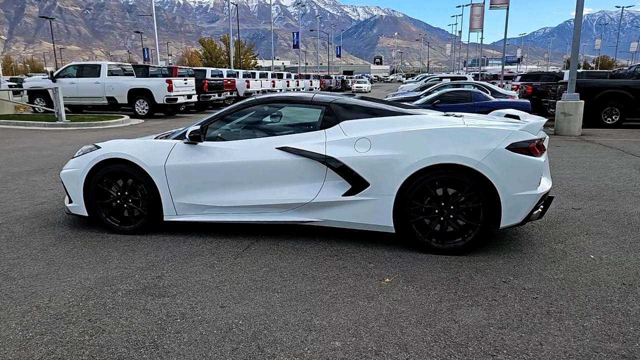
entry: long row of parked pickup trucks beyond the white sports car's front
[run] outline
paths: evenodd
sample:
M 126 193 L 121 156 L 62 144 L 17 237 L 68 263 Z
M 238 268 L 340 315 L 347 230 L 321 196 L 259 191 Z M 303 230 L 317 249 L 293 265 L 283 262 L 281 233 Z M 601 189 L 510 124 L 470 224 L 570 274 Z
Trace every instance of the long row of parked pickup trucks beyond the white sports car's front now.
M 136 117 L 147 118 L 156 112 L 175 115 L 185 109 L 204 111 L 215 103 L 228 105 L 271 92 L 353 90 L 358 78 L 363 76 L 83 61 L 69 63 L 48 75 L 26 78 L 22 87 L 29 89 L 29 104 L 45 108 L 53 106 L 51 90 L 38 88 L 58 86 L 72 113 L 127 107 Z M 368 78 L 366 81 L 371 91 L 371 82 Z M 46 112 L 40 108 L 34 111 Z

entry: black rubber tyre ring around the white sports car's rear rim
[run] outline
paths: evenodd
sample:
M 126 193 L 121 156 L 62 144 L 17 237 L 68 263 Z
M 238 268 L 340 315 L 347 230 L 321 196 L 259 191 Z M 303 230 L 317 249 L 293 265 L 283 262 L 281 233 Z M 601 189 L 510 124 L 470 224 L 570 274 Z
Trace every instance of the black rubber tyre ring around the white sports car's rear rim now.
M 413 232 L 412 225 L 408 221 L 408 206 L 412 199 L 413 193 L 415 193 L 422 184 L 434 179 L 445 177 L 455 177 L 474 186 L 476 192 L 481 197 L 481 202 L 483 204 L 483 214 L 480 229 L 466 243 L 458 247 L 443 249 L 440 247 L 435 247 L 431 245 L 431 243 L 423 241 Z M 404 238 L 412 241 L 420 250 L 430 252 L 432 254 L 442 255 L 463 254 L 468 250 L 476 248 L 491 228 L 493 215 L 491 212 L 493 210 L 493 202 L 491 200 L 490 193 L 488 193 L 488 191 L 484 188 L 483 184 L 477 181 L 474 177 L 468 176 L 463 172 L 453 170 L 439 170 L 431 172 L 429 174 L 425 174 L 415 179 L 415 181 L 413 181 L 413 183 L 408 186 L 408 188 L 406 188 L 406 190 L 402 194 L 398 195 L 401 196 L 401 198 L 397 203 L 398 206 L 394 208 L 394 227 L 396 227 L 397 233 L 401 234 Z

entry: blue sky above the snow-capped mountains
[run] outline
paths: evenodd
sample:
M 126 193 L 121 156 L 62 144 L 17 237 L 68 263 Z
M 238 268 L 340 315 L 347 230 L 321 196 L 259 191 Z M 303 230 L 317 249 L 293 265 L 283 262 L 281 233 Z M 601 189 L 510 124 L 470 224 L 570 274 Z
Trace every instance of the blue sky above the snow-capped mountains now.
M 393 8 L 399 12 L 406 13 L 430 25 L 438 28 L 448 29 L 447 24 L 451 24 L 450 16 L 460 13 L 456 5 L 468 3 L 468 0 L 398 0 L 390 2 L 388 0 L 339 0 L 341 3 L 354 5 L 377 5 L 381 8 Z M 484 38 L 485 42 L 493 42 L 504 37 L 504 10 L 488 10 L 489 0 L 485 0 Z M 479 3 L 479 0 L 474 2 Z M 584 8 L 586 12 L 596 12 L 598 10 L 616 10 L 615 5 L 636 5 L 632 9 L 640 9 L 638 0 L 585 0 Z M 625 10 L 627 11 L 627 10 Z M 511 0 L 509 9 L 509 37 L 516 37 L 520 33 L 530 33 L 531 31 L 544 28 L 545 26 L 556 26 L 564 20 L 573 17 L 575 12 L 575 0 Z M 465 8 L 465 31 L 466 37 L 468 28 L 468 7 Z M 472 35 L 474 37 L 474 35 Z

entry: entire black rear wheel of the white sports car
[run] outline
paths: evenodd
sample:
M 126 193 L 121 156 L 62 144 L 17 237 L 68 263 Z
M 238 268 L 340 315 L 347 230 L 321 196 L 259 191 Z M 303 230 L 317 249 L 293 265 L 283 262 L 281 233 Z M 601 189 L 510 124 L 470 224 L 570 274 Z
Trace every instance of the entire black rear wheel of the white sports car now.
M 426 252 L 463 253 L 475 247 L 491 227 L 490 194 L 477 179 L 462 172 L 426 174 L 398 195 L 396 231 Z

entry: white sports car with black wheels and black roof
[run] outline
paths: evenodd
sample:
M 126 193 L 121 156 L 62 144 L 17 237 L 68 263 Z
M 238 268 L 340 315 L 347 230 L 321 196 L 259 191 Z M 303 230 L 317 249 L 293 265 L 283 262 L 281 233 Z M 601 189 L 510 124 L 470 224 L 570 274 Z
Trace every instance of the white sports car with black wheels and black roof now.
M 60 174 L 65 211 L 122 233 L 158 220 L 310 224 L 457 252 L 553 200 L 546 120 L 497 114 L 259 95 L 183 129 L 84 146 Z

